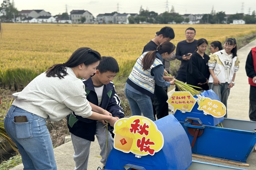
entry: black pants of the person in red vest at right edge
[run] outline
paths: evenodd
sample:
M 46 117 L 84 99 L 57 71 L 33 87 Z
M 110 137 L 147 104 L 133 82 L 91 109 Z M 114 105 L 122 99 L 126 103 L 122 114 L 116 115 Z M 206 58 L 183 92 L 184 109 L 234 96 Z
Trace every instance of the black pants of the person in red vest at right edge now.
M 249 100 L 249 118 L 252 121 L 256 121 L 256 87 L 252 85 L 250 85 Z

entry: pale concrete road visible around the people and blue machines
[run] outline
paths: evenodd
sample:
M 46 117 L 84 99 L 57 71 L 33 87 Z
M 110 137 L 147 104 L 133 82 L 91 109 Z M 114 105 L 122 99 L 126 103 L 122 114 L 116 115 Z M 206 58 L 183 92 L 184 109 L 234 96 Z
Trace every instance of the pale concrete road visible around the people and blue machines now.
M 239 119 L 239 120 L 249 120 L 248 111 L 249 111 L 249 88 L 247 81 L 247 76 L 245 73 L 245 61 L 247 54 L 249 53 L 252 47 L 256 46 L 256 40 L 250 42 L 248 45 L 239 49 L 238 57 L 241 61 L 240 69 L 236 74 L 236 85 L 231 89 L 230 96 L 228 99 L 227 111 L 228 118 L 230 119 Z M 256 128 L 256 127 L 255 127 Z M 238 149 L 237 148 L 234 149 Z M 74 161 L 73 161 L 73 146 L 71 142 L 67 142 L 57 148 L 54 149 L 55 159 L 57 162 L 58 170 L 73 170 Z M 88 170 L 97 170 L 97 168 L 102 166 L 99 158 L 99 144 L 97 141 L 92 142 L 90 149 L 90 159 Z M 248 170 L 256 170 L 256 152 L 252 153 L 250 157 L 247 159 L 247 164 L 250 164 L 249 167 L 238 166 L 234 164 L 227 164 L 218 161 L 209 161 L 207 159 L 199 159 L 192 157 L 193 160 L 204 161 L 213 164 L 221 164 L 225 166 L 231 167 L 239 167 Z M 23 170 L 23 165 L 20 164 L 13 168 L 12 170 Z

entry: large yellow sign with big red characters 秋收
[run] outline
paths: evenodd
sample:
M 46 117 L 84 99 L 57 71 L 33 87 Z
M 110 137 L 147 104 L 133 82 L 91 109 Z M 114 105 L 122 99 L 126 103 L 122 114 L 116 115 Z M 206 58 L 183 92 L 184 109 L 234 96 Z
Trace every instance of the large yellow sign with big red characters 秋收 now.
M 163 134 L 151 119 L 144 116 L 119 119 L 114 125 L 113 133 L 114 148 L 124 153 L 154 155 L 163 147 Z

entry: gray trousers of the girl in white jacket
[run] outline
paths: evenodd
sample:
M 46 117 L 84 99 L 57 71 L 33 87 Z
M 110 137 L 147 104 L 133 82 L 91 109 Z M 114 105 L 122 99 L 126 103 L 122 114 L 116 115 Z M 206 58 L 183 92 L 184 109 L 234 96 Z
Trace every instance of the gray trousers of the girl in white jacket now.
M 227 118 L 227 98 L 230 94 L 230 88 L 228 88 L 228 83 L 221 83 L 220 85 L 213 85 L 213 83 L 209 83 L 209 89 L 217 94 L 221 102 L 226 106 L 226 115 L 224 117 Z

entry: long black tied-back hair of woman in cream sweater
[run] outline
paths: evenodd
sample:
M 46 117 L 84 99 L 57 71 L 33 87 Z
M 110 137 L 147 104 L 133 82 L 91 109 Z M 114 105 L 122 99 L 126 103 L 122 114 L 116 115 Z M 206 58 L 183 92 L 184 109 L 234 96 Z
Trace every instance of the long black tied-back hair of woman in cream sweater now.
M 48 68 L 46 71 L 47 77 L 58 77 L 64 78 L 67 75 L 66 67 L 76 67 L 82 63 L 85 66 L 91 65 L 101 59 L 98 51 L 94 51 L 87 47 L 78 48 L 70 58 L 63 64 L 55 64 L 52 67 Z

